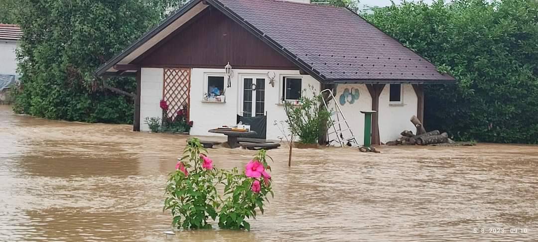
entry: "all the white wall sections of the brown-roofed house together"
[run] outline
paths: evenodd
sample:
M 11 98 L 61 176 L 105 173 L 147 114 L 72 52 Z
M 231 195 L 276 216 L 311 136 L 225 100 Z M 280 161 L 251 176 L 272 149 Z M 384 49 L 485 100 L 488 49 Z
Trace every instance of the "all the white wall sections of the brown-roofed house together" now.
M 159 102 L 162 99 L 163 88 L 162 68 L 142 68 L 141 69 L 141 94 L 140 94 L 140 129 L 149 131 L 147 124 L 144 124 L 146 117 L 161 117 L 162 112 Z M 275 86 L 268 83 L 267 72 L 275 73 Z M 279 140 L 282 136 L 280 130 L 274 125 L 275 122 L 286 120 L 284 106 L 280 104 L 282 77 L 302 77 L 303 89 L 308 85 L 315 87 L 320 91 L 320 83 L 309 75 L 300 75 L 298 70 L 254 70 L 254 69 L 233 69 L 231 77 L 231 88 L 226 88 L 225 103 L 208 103 L 203 102 L 204 92 L 207 90 L 207 75 L 224 75 L 223 69 L 193 68 L 190 74 L 190 120 L 194 125 L 190 130 L 193 136 L 218 136 L 207 132 L 221 125 L 235 125 L 236 115 L 242 115 L 242 97 L 240 91 L 242 88 L 242 77 L 256 76 L 265 77 L 265 111 L 267 112 L 267 139 Z M 226 82 L 226 80 L 225 80 Z M 379 97 L 379 133 L 381 142 L 386 143 L 390 140 L 399 138 L 402 130 L 415 130 L 412 123 L 409 122 L 411 116 L 416 115 L 417 97 L 410 84 L 403 84 L 402 87 L 403 104 L 389 104 L 390 87 L 387 84 Z M 360 111 L 372 109 L 372 98 L 365 84 L 339 84 L 337 86 L 336 100 L 344 90 L 348 88 L 358 89 L 359 98 L 351 104 L 346 101 L 341 105 L 342 112 L 346 116 L 351 130 L 355 134 L 359 144 L 364 140 L 364 115 Z M 312 92 L 307 90 L 306 95 L 312 96 Z M 330 131 L 329 131 L 330 132 Z M 335 139 L 331 135 L 329 139 Z

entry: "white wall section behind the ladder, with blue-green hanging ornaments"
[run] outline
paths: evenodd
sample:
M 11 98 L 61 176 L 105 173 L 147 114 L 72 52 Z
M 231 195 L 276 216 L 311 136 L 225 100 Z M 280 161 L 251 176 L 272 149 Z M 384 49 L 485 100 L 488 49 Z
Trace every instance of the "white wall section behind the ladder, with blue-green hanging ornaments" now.
M 359 90 L 359 98 L 353 100 L 353 103 L 350 103 L 349 101 L 346 101 L 344 105 L 340 104 L 339 98 L 344 93 L 345 89 L 352 90 L 352 89 L 358 89 Z M 339 84 L 336 88 L 336 102 L 338 102 L 338 105 L 340 105 L 340 108 L 342 109 L 342 113 L 345 116 L 346 120 L 348 121 L 349 126 L 351 127 L 351 131 L 355 135 L 355 138 L 357 139 L 358 143 L 360 145 L 364 144 L 364 114 L 360 111 L 369 111 L 372 110 L 372 97 L 370 96 L 370 92 L 368 92 L 368 89 L 366 88 L 365 84 Z M 331 102 L 331 105 L 329 108 L 333 108 L 334 103 Z M 336 116 L 333 115 L 333 119 L 336 122 Z M 341 124 L 341 129 L 347 129 L 345 124 Z M 336 127 L 337 130 L 339 130 L 339 127 Z M 329 129 L 329 133 L 334 132 L 334 129 Z M 343 132 L 344 138 L 350 138 L 351 133 L 350 132 Z M 331 134 L 329 136 L 329 140 L 336 140 L 336 134 Z M 331 143 L 331 145 L 338 145 L 337 142 Z

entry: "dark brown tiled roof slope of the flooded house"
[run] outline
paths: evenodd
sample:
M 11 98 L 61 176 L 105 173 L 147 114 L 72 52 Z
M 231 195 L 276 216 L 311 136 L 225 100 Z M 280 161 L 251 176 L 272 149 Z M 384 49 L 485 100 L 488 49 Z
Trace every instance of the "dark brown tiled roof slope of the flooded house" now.
M 325 81 L 454 81 L 348 9 L 273 0 L 217 1 Z

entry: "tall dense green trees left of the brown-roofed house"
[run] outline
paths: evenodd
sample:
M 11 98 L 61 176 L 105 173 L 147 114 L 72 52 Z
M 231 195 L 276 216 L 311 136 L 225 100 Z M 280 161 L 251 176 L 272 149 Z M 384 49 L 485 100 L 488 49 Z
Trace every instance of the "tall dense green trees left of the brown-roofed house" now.
M 180 4 L 172 0 L 19 0 L 21 88 L 14 109 L 50 119 L 131 123 L 133 100 L 103 88 L 95 69 Z M 108 80 L 133 92 L 132 78 Z

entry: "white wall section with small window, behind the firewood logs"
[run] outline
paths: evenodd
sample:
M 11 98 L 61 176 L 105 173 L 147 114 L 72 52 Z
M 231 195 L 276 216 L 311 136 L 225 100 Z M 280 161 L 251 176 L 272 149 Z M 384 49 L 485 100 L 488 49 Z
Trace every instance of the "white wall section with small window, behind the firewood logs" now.
M 411 84 L 402 84 L 403 104 L 389 104 L 390 85 L 385 85 L 379 96 L 379 138 L 382 143 L 395 140 L 404 130 L 415 132 L 416 127 L 409 121 L 416 115 L 418 99 Z

